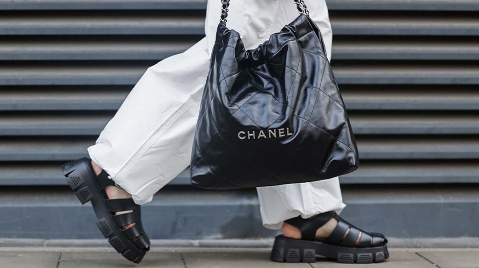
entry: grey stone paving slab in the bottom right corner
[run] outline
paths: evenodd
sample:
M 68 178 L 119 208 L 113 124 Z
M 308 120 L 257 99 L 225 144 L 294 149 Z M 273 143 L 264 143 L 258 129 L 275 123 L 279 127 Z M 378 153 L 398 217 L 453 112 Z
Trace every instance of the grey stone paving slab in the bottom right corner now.
M 479 268 L 479 251 L 474 249 L 419 254 L 440 268 Z

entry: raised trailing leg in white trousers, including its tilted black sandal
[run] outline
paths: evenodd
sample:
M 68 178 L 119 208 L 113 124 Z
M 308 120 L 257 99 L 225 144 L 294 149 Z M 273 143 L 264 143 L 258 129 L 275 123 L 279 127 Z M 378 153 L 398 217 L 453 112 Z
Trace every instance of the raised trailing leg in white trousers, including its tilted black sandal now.
M 88 148 L 92 160 L 62 166 L 80 202 L 91 201 L 102 234 L 133 262 L 150 245 L 140 205 L 189 164 L 208 67 L 203 38 L 148 68 Z

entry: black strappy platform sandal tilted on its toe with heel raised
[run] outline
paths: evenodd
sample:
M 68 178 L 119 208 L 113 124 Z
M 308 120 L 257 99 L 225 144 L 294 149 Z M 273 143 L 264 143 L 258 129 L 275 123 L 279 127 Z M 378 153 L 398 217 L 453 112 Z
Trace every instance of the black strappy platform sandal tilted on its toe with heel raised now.
M 108 199 L 104 189 L 114 185 L 108 174 L 102 171 L 95 177 L 91 160 L 81 158 L 62 166 L 68 184 L 75 191 L 81 204 L 91 201 L 98 222 L 96 225 L 108 242 L 123 257 L 134 263 L 140 263 L 150 248 L 150 241 L 141 224 L 140 206 L 133 199 Z M 115 215 L 114 212 L 133 212 Z M 128 229 L 121 226 L 135 223 Z

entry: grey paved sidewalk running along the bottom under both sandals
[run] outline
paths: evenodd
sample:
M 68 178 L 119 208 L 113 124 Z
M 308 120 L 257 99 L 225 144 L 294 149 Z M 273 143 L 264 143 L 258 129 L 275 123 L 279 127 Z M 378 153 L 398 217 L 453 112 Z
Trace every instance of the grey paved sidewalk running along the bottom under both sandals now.
M 136 265 L 105 247 L 0 247 L 0 268 L 479 268 L 479 249 L 391 248 L 378 264 L 269 261 L 269 248 L 156 247 Z

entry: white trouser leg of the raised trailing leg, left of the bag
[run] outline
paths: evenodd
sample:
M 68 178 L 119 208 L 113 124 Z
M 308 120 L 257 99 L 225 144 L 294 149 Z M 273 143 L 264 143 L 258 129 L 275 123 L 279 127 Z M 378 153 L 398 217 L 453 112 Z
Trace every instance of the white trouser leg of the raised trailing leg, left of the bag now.
M 206 38 L 149 67 L 88 148 L 94 166 L 103 168 L 137 204 L 151 201 L 189 165 L 208 67 Z M 115 189 L 111 198 L 124 190 Z

